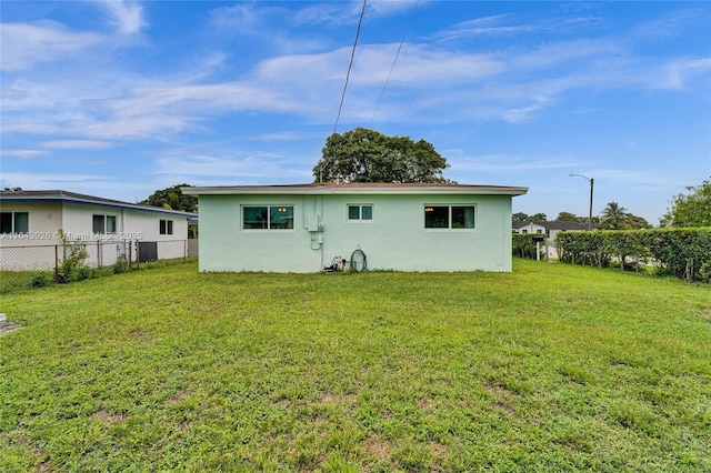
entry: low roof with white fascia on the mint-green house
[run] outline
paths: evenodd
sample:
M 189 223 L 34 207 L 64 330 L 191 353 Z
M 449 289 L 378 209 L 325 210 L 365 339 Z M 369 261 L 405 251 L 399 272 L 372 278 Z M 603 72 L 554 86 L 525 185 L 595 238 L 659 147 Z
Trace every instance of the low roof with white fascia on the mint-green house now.
M 184 194 L 490 194 L 523 195 L 529 188 L 480 184 L 392 183 L 392 182 L 313 182 L 280 185 L 224 185 L 182 188 Z

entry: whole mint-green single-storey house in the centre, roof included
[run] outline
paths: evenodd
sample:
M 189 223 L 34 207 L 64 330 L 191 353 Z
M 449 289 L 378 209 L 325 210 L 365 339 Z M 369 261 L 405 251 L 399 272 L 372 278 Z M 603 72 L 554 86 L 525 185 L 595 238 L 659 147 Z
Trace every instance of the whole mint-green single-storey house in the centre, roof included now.
M 199 197 L 200 271 L 511 271 L 511 199 L 528 188 L 311 183 L 183 188 Z

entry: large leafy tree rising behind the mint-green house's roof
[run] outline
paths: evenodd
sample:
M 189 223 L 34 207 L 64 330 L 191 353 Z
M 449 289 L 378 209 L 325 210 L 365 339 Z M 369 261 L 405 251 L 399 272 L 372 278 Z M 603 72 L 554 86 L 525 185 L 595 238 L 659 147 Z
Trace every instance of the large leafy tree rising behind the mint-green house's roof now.
M 447 168 L 447 159 L 424 140 L 357 128 L 326 140 L 313 177 L 316 182 L 452 182 L 442 177 Z

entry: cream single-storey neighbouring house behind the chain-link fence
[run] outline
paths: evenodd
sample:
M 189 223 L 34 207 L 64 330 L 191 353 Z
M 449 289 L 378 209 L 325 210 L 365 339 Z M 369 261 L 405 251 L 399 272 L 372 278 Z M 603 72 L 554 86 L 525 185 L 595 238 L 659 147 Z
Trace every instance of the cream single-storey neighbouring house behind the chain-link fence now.
M 197 215 L 74 192 L 0 191 L 0 269 L 54 268 L 63 256 L 54 254 L 60 229 L 67 240 L 86 243 L 92 265 L 113 264 L 119 255 L 136 260 L 139 249 L 150 259 L 180 258 L 189 220 Z

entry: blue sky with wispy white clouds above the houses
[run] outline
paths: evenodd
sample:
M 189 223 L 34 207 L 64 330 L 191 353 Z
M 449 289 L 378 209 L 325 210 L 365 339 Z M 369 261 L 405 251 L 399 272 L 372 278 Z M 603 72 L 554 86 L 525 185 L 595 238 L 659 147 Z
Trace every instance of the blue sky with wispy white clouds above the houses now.
M 0 8 L 1 185 L 136 202 L 311 182 L 362 1 Z M 356 127 L 429 141 L 460 183 L 529 187 L 514 212 L 587 214 L 574 173 L 594 214 L 658 224 L 711 175 L 711 3 L 370 0 Z

